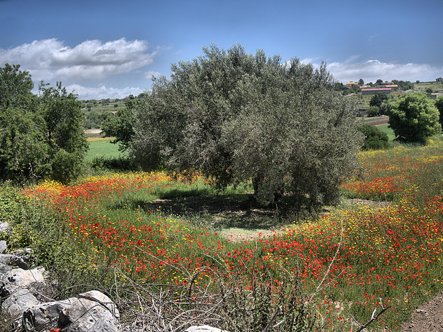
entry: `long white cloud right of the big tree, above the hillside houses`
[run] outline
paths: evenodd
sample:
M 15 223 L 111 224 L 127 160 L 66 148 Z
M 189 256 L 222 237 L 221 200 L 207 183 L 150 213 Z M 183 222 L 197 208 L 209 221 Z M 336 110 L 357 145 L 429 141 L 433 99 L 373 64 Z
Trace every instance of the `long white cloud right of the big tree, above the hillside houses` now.
M 332 62 L 327 63 L 327 69 L 340 82 L 359 80 L 365 82 L 376 82 L 381 80 L 410 80 L 415 82 L 431 81 L 442 76 L 443 67 L 437 68 L 430 64 L 415 63 L 387 63 L 379 60 L 368 60 L 366 62 Z

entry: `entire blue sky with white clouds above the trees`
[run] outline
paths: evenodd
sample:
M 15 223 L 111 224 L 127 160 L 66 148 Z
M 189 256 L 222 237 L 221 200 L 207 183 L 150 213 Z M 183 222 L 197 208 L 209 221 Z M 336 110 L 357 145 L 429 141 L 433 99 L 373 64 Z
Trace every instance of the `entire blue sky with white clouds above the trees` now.
M 82 100 L 149 91 L 202 47 L 326 62 L 338 82 L 443 77 L 443 1 L 0 0 L 0 67 Z

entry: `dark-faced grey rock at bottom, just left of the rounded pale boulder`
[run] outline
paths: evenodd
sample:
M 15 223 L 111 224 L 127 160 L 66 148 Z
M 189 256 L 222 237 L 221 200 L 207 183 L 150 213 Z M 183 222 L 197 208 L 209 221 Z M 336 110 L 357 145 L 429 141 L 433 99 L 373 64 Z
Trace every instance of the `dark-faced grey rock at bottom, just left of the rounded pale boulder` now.
M 60 313 L 66 308 L 69 308 L 77 299 L 71 297 L 63 301 L 46 302 L 28 308 L 23 313 L 23 325 L 26 331 L 46 331 L 48 329 L 55 329 L 58 326 Z

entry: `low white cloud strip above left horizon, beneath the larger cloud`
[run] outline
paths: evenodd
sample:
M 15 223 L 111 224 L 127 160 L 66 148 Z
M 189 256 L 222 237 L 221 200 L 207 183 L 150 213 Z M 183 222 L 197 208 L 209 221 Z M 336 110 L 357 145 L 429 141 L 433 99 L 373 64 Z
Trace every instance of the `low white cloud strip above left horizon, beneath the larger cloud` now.
M 122 89 L 114 87 L 105 87 L 102 85 L 100 87 L 83 87 L 82 85 L 73 84 L 66 87 L 66 91 L 78 94 L 80 100 L 88 99 L 105 99 L 105 98 L 125 98 L 132 94 L 133 96 L 138 96 L 144 89 L 139 87 L 125 87 Z

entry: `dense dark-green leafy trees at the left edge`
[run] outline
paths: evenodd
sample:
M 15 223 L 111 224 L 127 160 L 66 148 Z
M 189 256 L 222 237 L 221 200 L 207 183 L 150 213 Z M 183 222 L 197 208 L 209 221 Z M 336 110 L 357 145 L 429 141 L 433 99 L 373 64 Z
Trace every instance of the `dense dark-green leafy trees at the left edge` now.
M 35 96 L 30 74 L 19 67 L 0 68 L 0 178 L 69 181 L 87 150 L 81 103 L 61 83 L 42 84 Z

